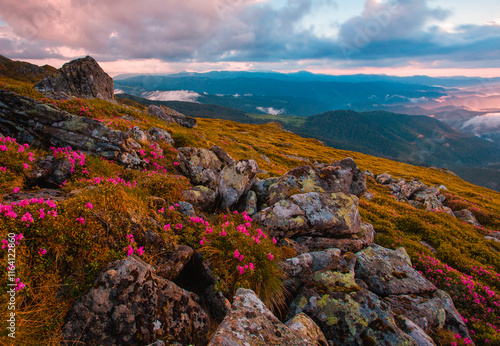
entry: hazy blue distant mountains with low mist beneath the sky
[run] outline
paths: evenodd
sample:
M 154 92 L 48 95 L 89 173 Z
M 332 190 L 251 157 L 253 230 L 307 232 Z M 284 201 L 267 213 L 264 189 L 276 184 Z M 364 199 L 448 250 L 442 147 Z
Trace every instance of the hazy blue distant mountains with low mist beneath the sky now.
M 214 71 L 123 75 L 115 85 L 120 92 L 151 100 L 213 104 L 246 113 L 311 116 L 349 109 L 427 115 L 500 148 L 500 114 L 486 116 L 500 113 L 500 78 Z

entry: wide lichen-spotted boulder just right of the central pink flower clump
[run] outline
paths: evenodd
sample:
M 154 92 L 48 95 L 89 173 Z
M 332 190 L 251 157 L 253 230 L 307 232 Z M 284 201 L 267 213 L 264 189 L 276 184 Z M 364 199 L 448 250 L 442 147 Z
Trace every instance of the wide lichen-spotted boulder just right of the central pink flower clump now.
M 344 236 L 361 231 L 358 202 L 343 192 L 309 192 L 281 200 L 254 218 L 273 236 Z

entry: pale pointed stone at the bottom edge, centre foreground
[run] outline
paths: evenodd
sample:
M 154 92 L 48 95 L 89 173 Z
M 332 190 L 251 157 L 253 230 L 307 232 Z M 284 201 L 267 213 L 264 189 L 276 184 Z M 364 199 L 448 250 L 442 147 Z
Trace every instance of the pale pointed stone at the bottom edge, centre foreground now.
M 234 296 L 231 311 L 212 335 L 208 345 L 313 346 L 324 338 L 318 329 L 314 330 L 314 322 L 307 317 L 297 319 L 296 322 L 298 321 L 302 321 L 302 325 L 306 324 L 311 331 L 306 332 L 298 325 L 291 329 L 281 323 L 253 291 L 239 288 Z

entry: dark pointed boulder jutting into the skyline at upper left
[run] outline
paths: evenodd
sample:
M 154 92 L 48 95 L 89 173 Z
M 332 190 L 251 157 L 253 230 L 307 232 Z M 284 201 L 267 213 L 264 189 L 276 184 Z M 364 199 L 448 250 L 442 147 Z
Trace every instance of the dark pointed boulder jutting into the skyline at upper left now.
M 56 98 L 97 98 L 116 102 L 111 78 L 90 56 L 66 63 L 35 89 Z

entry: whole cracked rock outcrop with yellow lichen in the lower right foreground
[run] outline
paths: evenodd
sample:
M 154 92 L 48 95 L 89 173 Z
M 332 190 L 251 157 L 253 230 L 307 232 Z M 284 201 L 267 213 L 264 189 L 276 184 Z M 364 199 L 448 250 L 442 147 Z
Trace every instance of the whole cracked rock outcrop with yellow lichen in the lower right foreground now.
M 448 294 L 411 266 L 403 248 L 329 249 L 287 259 L 288 318 L 305 313 L 336 345 L 435 345 L 447 329 L 470 338 Z

